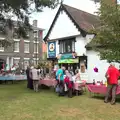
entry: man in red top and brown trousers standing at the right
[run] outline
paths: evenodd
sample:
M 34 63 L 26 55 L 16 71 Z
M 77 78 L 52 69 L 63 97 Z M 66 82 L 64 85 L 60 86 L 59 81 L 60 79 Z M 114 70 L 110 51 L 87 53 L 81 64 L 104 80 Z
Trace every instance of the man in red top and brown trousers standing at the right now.
M 106 93 L 104 102 L 108 103 L 109 96 L 111 96 L 112 97 L 111 105 L 113 105 L 116 102 L 116 90 L 117 90 L 118 78 L 119 78 L 119 71 L 114 66 L 113 63 L 111 63 L 110 66 L 108 67 L 108 70 L 105 76 L 107 78 L 108 85 L 107 85 L 107 93 Z

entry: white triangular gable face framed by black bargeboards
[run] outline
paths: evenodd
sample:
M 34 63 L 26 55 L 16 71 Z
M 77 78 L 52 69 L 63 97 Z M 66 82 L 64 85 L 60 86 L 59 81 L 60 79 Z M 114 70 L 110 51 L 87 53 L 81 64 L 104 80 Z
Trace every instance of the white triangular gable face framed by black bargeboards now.
M 62 11 L 59 14 L 51 30 L 49 39 L 68 37 L 68 36 L 74 36 L 79 34 L 80 32 L 78 31 L 74 23 L 70 20 L 68 15 L 64 11 Z

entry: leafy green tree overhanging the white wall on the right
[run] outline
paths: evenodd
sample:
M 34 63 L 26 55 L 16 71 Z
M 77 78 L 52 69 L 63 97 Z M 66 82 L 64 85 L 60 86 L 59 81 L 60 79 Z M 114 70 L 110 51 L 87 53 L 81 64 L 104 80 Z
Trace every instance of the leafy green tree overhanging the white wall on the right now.
M 106 0 L 107 1 L 107 0 Z M 98 15 L 100 27 L 94 31 L 93 49 L 100 53 L 101 59 L 120 61 L 120 9 L 115 2 L 101 0 Z M 91 44 L 90 43 L 90 44 Z

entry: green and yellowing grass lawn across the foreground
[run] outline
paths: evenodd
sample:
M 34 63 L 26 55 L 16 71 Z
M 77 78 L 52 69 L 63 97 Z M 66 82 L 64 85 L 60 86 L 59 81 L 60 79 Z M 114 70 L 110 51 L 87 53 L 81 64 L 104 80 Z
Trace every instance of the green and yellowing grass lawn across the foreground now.
M 51 90 L 35 93 L 25 83 L 0 85 L 0 120 L 120 120 L 120 104 L 87 94 L 67 98 Z

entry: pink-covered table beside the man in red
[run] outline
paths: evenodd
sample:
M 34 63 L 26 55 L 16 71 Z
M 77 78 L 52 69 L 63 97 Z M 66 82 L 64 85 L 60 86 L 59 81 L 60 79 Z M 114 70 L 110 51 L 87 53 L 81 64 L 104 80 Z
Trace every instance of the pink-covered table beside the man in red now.
M 97 93 L 105 95 L 107 92 L 107 87 L 105 85 L 87 85 L 88 91 L 90 93 Z M 116 95 L 120 94 L 120 85 L 117 87 Z

